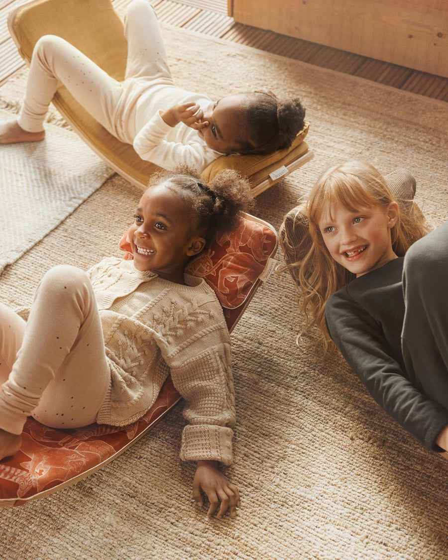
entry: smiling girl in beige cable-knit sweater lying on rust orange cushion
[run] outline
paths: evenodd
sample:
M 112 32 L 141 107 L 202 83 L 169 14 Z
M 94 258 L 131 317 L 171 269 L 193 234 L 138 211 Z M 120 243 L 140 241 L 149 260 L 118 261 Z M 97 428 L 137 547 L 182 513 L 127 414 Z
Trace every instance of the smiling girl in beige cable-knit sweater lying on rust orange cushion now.
M 211 287 L 184 273 L 217 229 L 232 230 L 250 204 L 233 171 L 204 185 L 189 170 L 157 175 L 128 237 L 132 259 L 105 258 L 43 277 L 29 319 L 0 304 L 0 459 L 21 445 L 30 414 L 55 428 L 125 426 L 155 402 L 167 375 L 186 400 L 180 457 L 197 461 L 193 496 L 236 515 L 230 337 Z M 25 329 L 26 325 L 26 329 Z

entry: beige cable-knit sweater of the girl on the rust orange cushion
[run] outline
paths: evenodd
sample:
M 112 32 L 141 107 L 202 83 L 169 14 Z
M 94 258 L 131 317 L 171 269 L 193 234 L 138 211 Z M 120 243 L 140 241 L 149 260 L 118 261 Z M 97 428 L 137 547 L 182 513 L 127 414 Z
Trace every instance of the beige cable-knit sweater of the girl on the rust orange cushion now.
M 186 400 L 180 457 L 232 462 L 235 424 L 230 336 L 203 280 L 186 286 L 107 258 L 90 278 L 100 310 L 111 385 L 97 422 L 124 426 L 155 402 L 169 371 Z

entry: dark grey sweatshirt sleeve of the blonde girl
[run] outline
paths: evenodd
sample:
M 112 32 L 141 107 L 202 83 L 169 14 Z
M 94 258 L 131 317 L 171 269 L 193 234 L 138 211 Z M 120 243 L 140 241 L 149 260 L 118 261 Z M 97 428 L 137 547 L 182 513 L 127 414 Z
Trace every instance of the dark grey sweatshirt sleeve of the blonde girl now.
M 436 439 L 448 424 L 448 412 L 407 379 L 390 355 L 381 325 L 345 290 L 329 298 L 325 320 L 330 337 L 380 407 L 428 449 L 443 451 Z

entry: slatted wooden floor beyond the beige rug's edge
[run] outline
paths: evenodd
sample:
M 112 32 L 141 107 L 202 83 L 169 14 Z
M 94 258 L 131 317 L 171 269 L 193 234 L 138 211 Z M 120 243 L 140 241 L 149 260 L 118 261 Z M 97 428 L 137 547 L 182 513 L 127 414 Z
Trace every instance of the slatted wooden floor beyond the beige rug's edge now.
M 0 85 L 24 67 L 6 23 L 8 12 L 24 3 L 25 0 L 0 0 Z M 127 3 L 129 0 L 113 0 L 118 10 Z M 447 78 L 237 24 L 227 16 L 227 0 L 152 0 L 152 3 L 159 19 L 171 25 L 448 101 Z

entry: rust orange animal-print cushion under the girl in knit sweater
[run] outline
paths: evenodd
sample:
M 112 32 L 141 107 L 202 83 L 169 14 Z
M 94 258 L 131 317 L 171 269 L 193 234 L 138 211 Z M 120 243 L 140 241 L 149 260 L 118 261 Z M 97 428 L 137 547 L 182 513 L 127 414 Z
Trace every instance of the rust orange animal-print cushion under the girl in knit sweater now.
M 130 248 L 126 235 L 120 241 L 123 250 Z M 190 263 L 188 272 L 206 278 L 217 292 L 229 330 L 276 249 L 273 228 L 247 215 L 237 231 L 218 236 Z M 124 428 L 92 424 L 55 430 L 28 418 L 21 450 L 0 462 L 0 507 L 22 505 L 87 477 L 142 437 L 179 399 L 168 377 L 151 409 Z

